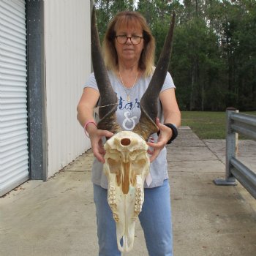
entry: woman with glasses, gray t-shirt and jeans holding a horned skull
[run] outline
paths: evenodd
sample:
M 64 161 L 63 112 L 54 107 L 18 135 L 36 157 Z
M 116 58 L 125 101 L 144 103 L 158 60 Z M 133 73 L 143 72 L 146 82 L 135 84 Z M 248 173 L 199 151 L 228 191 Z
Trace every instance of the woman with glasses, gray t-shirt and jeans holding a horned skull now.
M 138 12 L 120 12 L 111 20 L 103 41 L 103 53 L 111 86 L 118 97 L 117 121 L 124 130 L 132 130 L 140 117 L 140 98 L 154 72 L 154 50 L 154 37 L 145 18 Z M 99 91 L 92 73 L 78 104 L 78 121 L 91 140 L 95 156 L 92 182 L 97 210 L 99 255 L 116 256 L 121 255 L 121 252 L 116 244 L 116 224 L 108 206 L 108 181 L 102 173 L 102 163 L 105 162 L 102 138 L 109 138 L 113 133 L 97 129 L 95 125 L 94 108 L 98 100 Z M 173 138 L 173 129 L 164 124 L 178 127 L 181 123 L 170 73 L 167 73 L 159 94 L 159 108 L 161 121 L 157 118 L 156 124 L 160 134 L 152 135 L 154 143 L 148 142 L 151 148 L 148 151 L 151 154 L 151 180 L 145 184 L 144 203 L 139 218 L 148 255 L 170 256 L 173 255 L 173 249 L 165 145 Z

